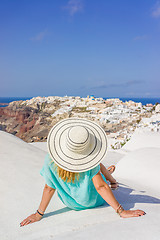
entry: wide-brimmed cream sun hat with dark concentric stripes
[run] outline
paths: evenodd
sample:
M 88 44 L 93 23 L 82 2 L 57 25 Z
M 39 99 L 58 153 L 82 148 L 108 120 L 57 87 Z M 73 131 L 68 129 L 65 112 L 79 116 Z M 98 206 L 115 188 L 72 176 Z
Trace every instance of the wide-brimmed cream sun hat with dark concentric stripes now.
M 100 164 L 107 153 L 103 128 L 85 118 L 67 118 L 56 123 L 47 137 L 50 157 L 62 169 L 85 172 Z

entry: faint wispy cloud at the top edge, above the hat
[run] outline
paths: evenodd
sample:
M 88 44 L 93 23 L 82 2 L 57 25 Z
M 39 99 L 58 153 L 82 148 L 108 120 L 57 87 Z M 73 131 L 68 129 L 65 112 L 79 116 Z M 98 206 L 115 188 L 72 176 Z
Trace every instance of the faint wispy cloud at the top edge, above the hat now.
M 77 12 L 81 12 L 83 10 L 83 4 L 81 0 L 69 0 L 63 9 L 67 10 L 69 15 L 73 16 Z

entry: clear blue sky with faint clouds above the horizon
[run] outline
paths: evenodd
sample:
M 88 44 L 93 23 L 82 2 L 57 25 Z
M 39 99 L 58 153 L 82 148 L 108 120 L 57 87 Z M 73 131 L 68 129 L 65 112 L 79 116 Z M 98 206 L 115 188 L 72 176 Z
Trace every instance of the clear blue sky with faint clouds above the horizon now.
M 0 97 L 160 97 L 160 1 L 0 1 Z

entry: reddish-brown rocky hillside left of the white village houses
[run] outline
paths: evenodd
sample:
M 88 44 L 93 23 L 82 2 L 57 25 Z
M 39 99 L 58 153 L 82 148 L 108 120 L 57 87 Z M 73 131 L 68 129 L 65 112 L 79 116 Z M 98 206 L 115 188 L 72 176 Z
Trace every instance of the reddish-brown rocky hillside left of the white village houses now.
M 51 117 L 59 104 L 26 105 L 23 101 L 10 103 L 0 108 L 0 129 L 12 133 L 26 142 L 45 141 L 51 127 L 59 117 Z M 64 114 L 63 117 L 68 117 Z M 62 116 L 61 116 L 62 118 Z

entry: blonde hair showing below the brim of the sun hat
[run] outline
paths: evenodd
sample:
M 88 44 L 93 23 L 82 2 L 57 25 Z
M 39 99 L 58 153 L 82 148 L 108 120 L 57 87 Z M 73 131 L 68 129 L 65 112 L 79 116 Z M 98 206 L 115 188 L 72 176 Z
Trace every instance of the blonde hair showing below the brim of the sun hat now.
M 79 173 L 77 172 L 69 172 L 67 170 L 64 170 L 63 168 L 59 167 L 53 160 L 54 163 L 54 170 L 57 171 L 58 176 L 65 182 L 74 183 L 75 179 L 79 179 Z

